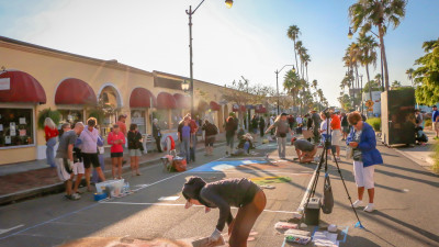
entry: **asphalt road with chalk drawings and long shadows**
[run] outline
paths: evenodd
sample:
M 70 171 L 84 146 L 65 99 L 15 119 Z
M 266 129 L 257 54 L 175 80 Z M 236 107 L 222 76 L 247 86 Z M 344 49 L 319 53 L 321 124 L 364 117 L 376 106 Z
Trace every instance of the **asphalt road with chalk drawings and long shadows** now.
M 180 191 L 188 177 L 200 176 L 206 181 L 216 181 L 223 178 L 284 176 L 291 181 L 275 183 L 275 189 L 264 190 L 268 200 L 266 211 L 254 227 L 254 239 L 248 242 L 248 246 L 283 246 L 283 236 L 273 225 L 279 220 L 291 217 L 291 212 L 296 211 L 316 165 L 279 161 L 273 155 L 274 148 L 272 144 L 261 146 L 258 154 L 250 158 L 254 161 L 245 161 L 224 158 L 225 147 L 218 147 L 215 156 L 199 155 L 198 161 L 181 173 L 165 172 L 160 164 L 148 166 L 143 168 L 140 177 L 125 175 L 132 189 L 140 188 L 138 191 L 106 202 L 92 201 L 91 193 L 85 193 L 76 202 L 55 194 L 2 206 L 0 246 L 140 246 L 146 239 L 156 242 L 156 246 L 159 246 L 157 243 L 161 243 L 160 239 L 168 240 L 168 246 L 184 246 L 184 243 L 209 236 L 218 217 L 217 210 L 210 213 L 204 213 L 203 207 L 184 210 Z M 439 246 L 439 178 L 399 157 L 395 150 L 385 147 L 380 147 L 380 150 L 385 165 L 375 169 L 376 211 L 371 214 L 358 211 L 367 229 L 353 227 L 357 220 L 331 161 L 329 172 L 335 207 L 331 214 L 320 215 L 320 225 L 330 223 L 338 225 L 339 229 L 347 229 L 345 239 L 344 235 L 339 235 L 340 246 Z M 257 164 L 264 160 L 264 153 L 272 154 L 272 162 Z M 291 147 L 288 155 L 293 158 Z M 218 161 L 215 166 L 209 164 L 215 160 Z M 234 165 L 243 161 L 241 166 Z M 340 170 L 354 200 L 351 164 L 342 161 Z M 323 179 L 319 181 L 317 195 L 323 187 Z M 175 201 L 158 200 L 172 195 L 180 198 Z M 154 243 L 149 244 L 153 246 Z

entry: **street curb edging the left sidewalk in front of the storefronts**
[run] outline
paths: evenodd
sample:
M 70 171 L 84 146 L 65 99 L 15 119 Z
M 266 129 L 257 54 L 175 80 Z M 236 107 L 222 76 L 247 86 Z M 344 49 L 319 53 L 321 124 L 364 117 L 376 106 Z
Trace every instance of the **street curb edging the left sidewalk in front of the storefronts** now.
M 214 147 L 224 146 L 225 144 L 226 144 L 225 142 L 221 142 L 221 143 L 215 144 Z M 201 151 L 201 150 L 204 150 L 204 147 L 196 149 L 196 151 Z M 148 165 L 154 165 L 157 162 L 160 162 L 160 158 L 146 160 L 144 162 L 139 162 L 138 165 L 139 165 L 139 167 L 146 167 Z M 131 170 L 130 166 L 122 167 L 122 172 L 125 172 L 128 170 Z M 111 170 L 108 170 L 105 172 L 105 175 L 108 175 L 108 173 L 111 173 Z M 49 186 L 35 188 L 35 189 L 29 189 L 29 190 L 18 191 L 18 192 L 10 193 L 10 194 L 0 195 L 0 206 L 7 205 L 10 203 L 15 203 L 16 201 L 32 199 L 35 197 L 59 193 L 64 190 L 65 190 L 64 182 L 58 182 L 58 183 L 54 183 L 54 184 L 49 184 Z

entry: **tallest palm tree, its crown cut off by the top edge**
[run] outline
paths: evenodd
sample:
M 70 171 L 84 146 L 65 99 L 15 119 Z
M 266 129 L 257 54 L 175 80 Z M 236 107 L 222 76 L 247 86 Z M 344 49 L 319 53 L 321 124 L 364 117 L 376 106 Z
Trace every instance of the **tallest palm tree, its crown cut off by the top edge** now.
M 389 69 L 385 55 L 384 35 L 387 25 L 396 29 L 405 16 L 407 0 L 358 0 L 349 7 L 349 16 L 353 32 L 361 27 L 364 34 L 371 31 L 372 25 L 378 27 L 380 37 L 381 57 L 384 65 L 385 90 L 389 90 Z

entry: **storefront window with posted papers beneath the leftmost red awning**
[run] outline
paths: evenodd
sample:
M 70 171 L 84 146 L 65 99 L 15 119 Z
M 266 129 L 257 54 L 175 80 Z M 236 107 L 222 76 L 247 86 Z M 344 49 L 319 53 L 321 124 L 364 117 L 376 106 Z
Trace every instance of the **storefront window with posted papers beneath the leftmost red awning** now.
M 32 109 L 0 108 L 0 147 L 34 144 Z

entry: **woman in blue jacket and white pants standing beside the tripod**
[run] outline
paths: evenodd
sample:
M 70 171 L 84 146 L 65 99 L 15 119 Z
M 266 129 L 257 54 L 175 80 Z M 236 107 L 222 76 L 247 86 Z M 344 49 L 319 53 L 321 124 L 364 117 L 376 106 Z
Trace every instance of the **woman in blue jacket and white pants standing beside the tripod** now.
M 365 212 L 374 209 L 374 165 L 383 164 L 383 158 L 376 149 L 375 132 L 372 126 L 362 121 L 359 112 L 352 112 L 348 116 L 350 125 L 353 126 L 349 133 L 346 144 L 353 148 L 353 176 L 358 189 L 358 200 L 352 203 L 353 207 L 362 204 L 364 188 L 368 190 L 369 204 Z

